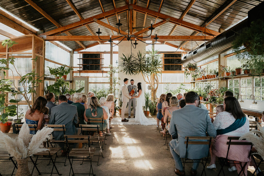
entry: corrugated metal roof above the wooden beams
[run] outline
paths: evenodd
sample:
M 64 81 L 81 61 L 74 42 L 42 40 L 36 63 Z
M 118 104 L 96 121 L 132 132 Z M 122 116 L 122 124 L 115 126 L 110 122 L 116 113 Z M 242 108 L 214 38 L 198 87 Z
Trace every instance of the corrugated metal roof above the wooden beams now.
M 223 12 L 218 18 L 216 18 L 213 22 L 211 22 L 207 28 L 211 30 L 218 31 L 221 27 L 223 29 L 228 28 L 229 26 L 234 25 L 241 19 L 247 16 L 247 12 L 258 5 L 263 0 L 237 0 L 232 6 L 230 6 L 225 12 Z M 73 11 L 73 9 L 69 6 L 69 4 L 65 0 L 34 0 L 34 2 L 42 8 L 46 13 L 48 13 L 55 21 L 57 21 L 60 25 L 65 26 L 70 23 L 79 21 L 79 17 Z M 142 6 L 144 8 L 147 7 L 148 0 L 137 0 L 137 5 Z M 158 11 L 160 7 L 161 0 L 151 0 L 149 1 L 149 9 L 153 11 Z M 230 1 L 226 0 L 196 0 L 192 5 L 188 13 L 183 18 L 183 21 L 187 21 L 199 26 L 204 25 L 206 21 L 208 21 L 211 17 L 217 14 L 222 8 L 224 8 Z M 88 18 L 97 14 L 102 13 L 102 9 L 98 0 L 72 0 L 72 3 L 76 7 L 77 11 L 82 15 L 82 17 Z M 104 11 L 109 11 L 114 9 L 114 3 L 112 0 L 101 0 Z M 130 0 L 129 3 L 133 3 L 133 0 Z M 185 11 L 186 7 L 190 3 L 190 0 L 163 0 L 163 4 L 161 6 L 160 12 L 175 18 L 180 18 L 182 13 Z M 125 0 L 115 0 L 116 8 L 122 7 L 126 5 Z M 17 0 L 1 0 L 0 7 L 6 9 L 8 12 L 17 16 L 21 20 L 29 23 L 30 25 L 40 29 L 49 31 L 57 28 L 53 23 L 51 23 L 47 18 L 37 12 L 33 7 L 31 7 L 25 1 L 17 1 Z M 128 30 L 128 22 L 127 22 L 127 13 L 123 12 L 120 14 L 121 16 L 121 26 L 122 31 Z M 142 27 L 144 23 L 145 14 L 136 13 L 136 27 Z M 150 26 L 150 20 L 155 21 L 154 17 L 148 16 L 146 18 L 145 27 Z M 108 17 L 109 23 L 111 26 L 117 27 L 115 23 L 117 23 L 116 16 Z M 102 20 L 105 23 L 108 23 L 106 19 Z M 161 21 L 157 19 L 156 22 Z M 89 27 L 95 33 L 98 31 L 98 24 L 91 23 Z M 158 35 L 168 35 L 174 24 L 165 23 L 161 26 L 158 26 L 154 30 L 158 32 Z M 136 29 L 136 31 L 141 30 L 142 28 Z M 101 27 L 100 31 L 101 35 L 110 35 L 112 34 L 111 30 L 106 27 Z M 91 33 L 87 30 L 86 27 L 82 26 L 76 28 L 74 30 L 69 31 L 72 35 L 91 35 Z M 182 26 L 177 26 L 172 35 L 192 35 L 195 31 L 184 28 Z M 117 32 L 114 32 L 117 35 Z M 150 31 L 147 32 L 150 34 Z M 66 35 L 65 33 L 60 35 Z M 201 34 L 198 34 L 201 35 Z M 94 41 L 81 41 L 84 45 L 89 45 L 94 43 Z M 174 45 L 180 45 L 183 41 L 169 41 Z M 201 44 L 203 41 L 196 41 L 198 44 Z M 62 41 L 63 43 L 63 41 Z M 64 44 L 71 49 L 79 48 L 75 41 L 64 41 Z M 195 43 L 195 45 L 197 45 Z M 194 42 L 193 42 L 194 46 Z M 191 49 L 191 42 L 188 42 L 185 45 L 186 48 Z

